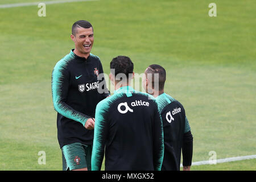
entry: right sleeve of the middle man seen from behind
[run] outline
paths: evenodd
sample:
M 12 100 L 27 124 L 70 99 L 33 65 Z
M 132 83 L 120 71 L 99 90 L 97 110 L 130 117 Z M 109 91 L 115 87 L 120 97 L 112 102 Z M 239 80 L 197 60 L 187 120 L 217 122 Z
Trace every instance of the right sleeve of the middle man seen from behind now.
M 155 109 L 154 118 L 154 169 L 160 171 L 162 168 L 164 157 L 164 139 L 163 139 L 163 123 L 159 113 L 158 106 Z

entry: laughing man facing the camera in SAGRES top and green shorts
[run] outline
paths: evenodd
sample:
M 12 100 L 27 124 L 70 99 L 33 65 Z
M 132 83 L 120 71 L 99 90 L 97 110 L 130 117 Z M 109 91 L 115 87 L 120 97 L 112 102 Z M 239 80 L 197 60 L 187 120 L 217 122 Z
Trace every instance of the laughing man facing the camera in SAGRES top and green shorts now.
M 75 49 L 58 61 L 52 71 L 57 138 L 63 170 L 90 170 L 95 109 L 109 92 L 100 86 L 105 80 L 97 79 L 103 73 L 100 58 L 90 53 L 94 42 L 92 24 L 85 20 L 75 22 L 71 39 Z

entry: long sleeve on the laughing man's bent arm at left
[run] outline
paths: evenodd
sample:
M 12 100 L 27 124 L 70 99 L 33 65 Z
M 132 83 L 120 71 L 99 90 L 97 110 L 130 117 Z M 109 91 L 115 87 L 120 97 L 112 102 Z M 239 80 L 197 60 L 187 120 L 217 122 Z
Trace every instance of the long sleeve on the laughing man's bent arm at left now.
M 69 119 L 80 122 L 83 126 L 90 117 L 74 110 L 66 103 L 69 88 L 68 61 L 60 60 L 52 71 L 52 101 L 54 109 Z

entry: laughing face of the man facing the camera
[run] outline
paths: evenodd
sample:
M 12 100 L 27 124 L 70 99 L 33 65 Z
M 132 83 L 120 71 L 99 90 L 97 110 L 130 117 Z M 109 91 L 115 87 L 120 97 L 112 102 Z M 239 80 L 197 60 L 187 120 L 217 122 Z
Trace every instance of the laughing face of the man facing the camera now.
M 94 36 L 93 28 L 76 28 L 75 35 L 71 35 L 71 39 L 75 43 L 75 51 L 77 56 L 87 58 L 92 50 Z

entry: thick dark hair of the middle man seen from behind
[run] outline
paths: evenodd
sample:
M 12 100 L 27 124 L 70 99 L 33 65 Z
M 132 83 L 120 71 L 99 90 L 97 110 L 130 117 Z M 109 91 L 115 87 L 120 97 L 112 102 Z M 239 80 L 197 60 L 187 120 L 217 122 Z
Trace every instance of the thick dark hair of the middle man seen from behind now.
M 114 69 L 114 73 L 113 70 Z M 117 76 L 119 73 L 126 75 L 126 78 L 129 78 L 129 74 L 133 73 L 133 62 L 130 57 L 127 56 L 117 56 L 112 59 L 110 62 L 110 71 L 114 76 Z

